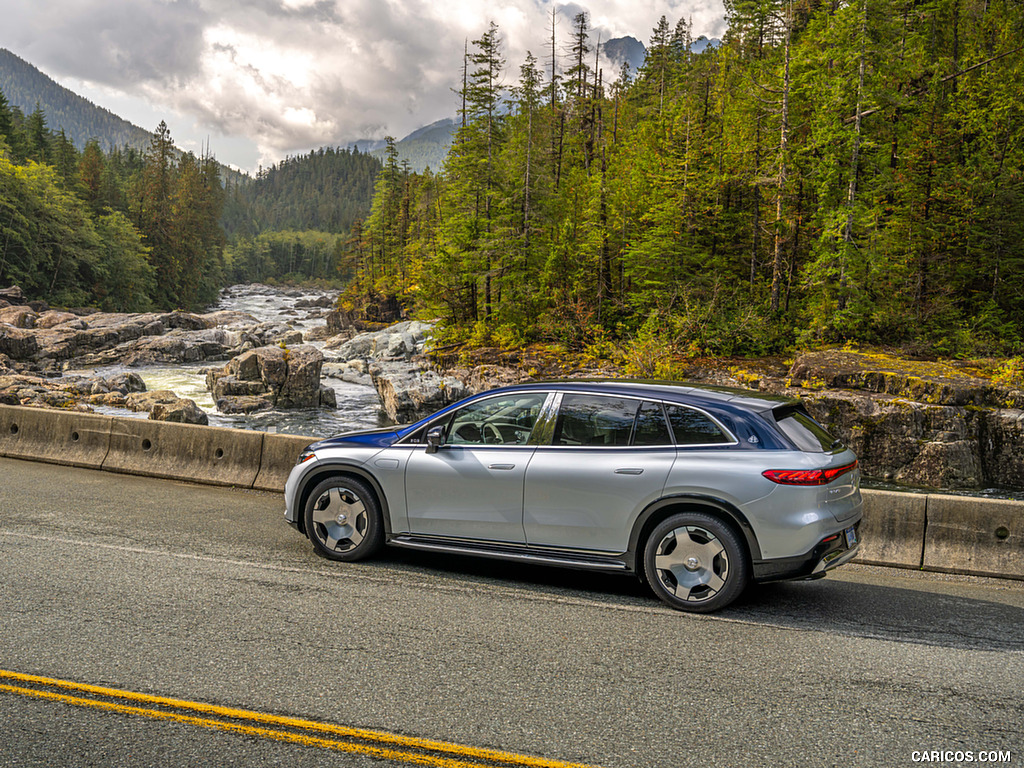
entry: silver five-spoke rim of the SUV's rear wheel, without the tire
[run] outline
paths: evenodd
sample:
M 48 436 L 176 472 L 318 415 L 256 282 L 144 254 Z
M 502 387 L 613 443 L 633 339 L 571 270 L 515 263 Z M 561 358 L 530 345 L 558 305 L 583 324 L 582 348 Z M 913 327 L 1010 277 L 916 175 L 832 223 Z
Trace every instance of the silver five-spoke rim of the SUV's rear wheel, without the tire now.
M 689 603 L 705 602 L 725 587 L 729 555 L 708 528 L 683 525 L 662 537 L 654 569 L 667 592 Z

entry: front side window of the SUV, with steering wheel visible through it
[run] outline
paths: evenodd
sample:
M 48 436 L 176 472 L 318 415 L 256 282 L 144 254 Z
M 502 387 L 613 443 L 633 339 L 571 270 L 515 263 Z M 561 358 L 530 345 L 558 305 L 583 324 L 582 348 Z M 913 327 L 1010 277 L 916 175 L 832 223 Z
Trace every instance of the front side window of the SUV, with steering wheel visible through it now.
M 453 415 L 445 441 L 453 445 L 524 445 L 547 396 L 547 392 L 529 392 L 471 402 Z

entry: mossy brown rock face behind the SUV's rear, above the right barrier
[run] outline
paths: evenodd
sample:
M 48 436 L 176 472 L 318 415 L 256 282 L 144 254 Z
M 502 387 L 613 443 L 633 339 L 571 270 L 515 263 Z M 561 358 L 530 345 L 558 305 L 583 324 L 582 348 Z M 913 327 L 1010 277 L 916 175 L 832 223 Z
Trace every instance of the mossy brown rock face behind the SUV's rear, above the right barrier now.
M 761 388 L 803 397 L 864 474 L 942 488 L 1024 488 L 1024 393 L 953 366 L 848 351 L 798 357 Z

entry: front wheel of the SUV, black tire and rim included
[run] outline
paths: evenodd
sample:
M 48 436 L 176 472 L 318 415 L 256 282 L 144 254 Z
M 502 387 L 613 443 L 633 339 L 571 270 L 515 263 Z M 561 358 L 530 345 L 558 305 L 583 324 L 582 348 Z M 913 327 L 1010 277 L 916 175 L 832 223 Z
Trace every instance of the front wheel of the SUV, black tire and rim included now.
M 316 554 L 352 562 L 370 557 L 384 541 L 377 497 L 366 482 L 347 475 L 321 481 L 306 500 L 306 535 Z

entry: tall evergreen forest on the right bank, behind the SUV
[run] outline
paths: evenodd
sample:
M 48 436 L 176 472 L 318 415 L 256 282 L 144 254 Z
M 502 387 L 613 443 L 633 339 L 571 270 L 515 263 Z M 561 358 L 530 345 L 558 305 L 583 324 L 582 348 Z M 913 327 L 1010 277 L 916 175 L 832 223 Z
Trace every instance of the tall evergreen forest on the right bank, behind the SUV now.
M 719 46 L 663 18 L 635 73 L 599 69 L 586 13 L 515 78 L 482 31 L 443 167 L 386 153 L 344 300 L 504 346 L 1018 353 L 1024 6 L 727 11 Z

